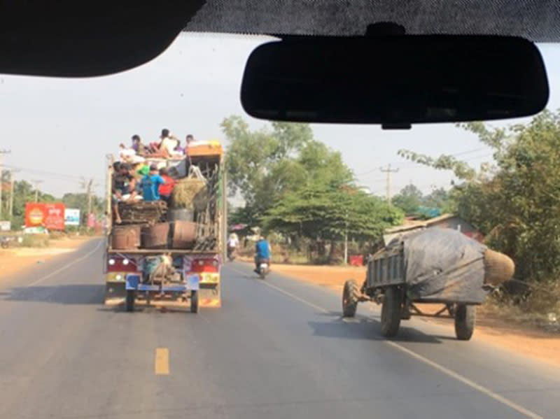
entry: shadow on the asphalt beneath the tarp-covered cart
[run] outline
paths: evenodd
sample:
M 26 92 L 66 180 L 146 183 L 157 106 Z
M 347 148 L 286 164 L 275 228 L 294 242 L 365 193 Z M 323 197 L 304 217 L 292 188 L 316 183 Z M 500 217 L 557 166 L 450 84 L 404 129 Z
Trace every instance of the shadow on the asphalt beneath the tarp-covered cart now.
M 381 324 L 371 318 L 353 318 L 343 320 L 338 317 L 330 322 L 308 322 L 315 336 L 338 339 L 365 339 L 369 341 L 386 340 L 381 335 Z M 397 342 L 442 343 L 442 340 L 453 339 L 447 336 L 423 334 L 418 329 L 406 327 L 401 323 L 398 335 L 391 339 Z

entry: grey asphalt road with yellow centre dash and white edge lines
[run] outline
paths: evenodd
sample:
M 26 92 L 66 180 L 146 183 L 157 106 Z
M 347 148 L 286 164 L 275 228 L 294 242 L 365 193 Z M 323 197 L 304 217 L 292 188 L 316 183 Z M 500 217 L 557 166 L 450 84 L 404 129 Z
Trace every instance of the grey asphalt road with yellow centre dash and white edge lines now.
M 559 369 L 241 263 L 219 309 L 106 307 L 100 245 L 0 280 L 0 418 L 560 417 Z

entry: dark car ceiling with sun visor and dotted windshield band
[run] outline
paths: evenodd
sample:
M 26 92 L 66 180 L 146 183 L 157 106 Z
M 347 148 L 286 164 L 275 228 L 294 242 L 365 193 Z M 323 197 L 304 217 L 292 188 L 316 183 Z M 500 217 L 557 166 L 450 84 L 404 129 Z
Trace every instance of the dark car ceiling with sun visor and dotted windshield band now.
M 0 0 L 0 73 L 86 77 L 139 66 L 181 31 L 361 35 L 397 22 L 407 34 L 560 40 L 557 0 Z

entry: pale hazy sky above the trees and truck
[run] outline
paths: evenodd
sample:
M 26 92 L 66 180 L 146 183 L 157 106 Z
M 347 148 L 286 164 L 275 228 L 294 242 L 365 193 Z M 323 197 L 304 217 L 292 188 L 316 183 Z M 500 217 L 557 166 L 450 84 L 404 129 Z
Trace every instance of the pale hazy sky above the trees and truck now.
M 16 179 L 42 180 L 41 190 L 62 197 L 83 192 L 80 180 L 94 178 L 104 194 L 106 155 L 132 134 L 156 141 L 162 128 L 179 138 L 225 141 L 220 122 L 241 115 L 251 128 L 267 122 L 244 113 L 239 101 L 248 55 L 267 41 L 260 36 L 183 33 L 153 61 L 98 78 L 43 78 L 0 74 L 0 150 Z M 560 44 L 538 45 L 547 66 L 548 108 L 560 108 Z M 494 126 L 519 120 L 493 122 Z M 386 131 L 374 125 L 311 125 L 314 136 L 342 153 L 359 185 L 386 193 L 381 166 L 391 164 L 391 193 L 414 183 L 424 193 L 449 187 L 453 176 L 407 162 L 404 148 L 428 155 L 458 155 L 470 164 L 491 161 L 491 151 L 451 124 L 415 125 Z

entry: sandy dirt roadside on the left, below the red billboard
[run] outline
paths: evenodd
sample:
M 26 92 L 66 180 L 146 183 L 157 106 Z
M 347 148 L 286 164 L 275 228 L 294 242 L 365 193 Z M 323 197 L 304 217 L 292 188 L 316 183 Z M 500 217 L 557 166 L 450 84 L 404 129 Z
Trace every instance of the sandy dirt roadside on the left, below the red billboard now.
M 8 248 L 0 250 L 0 281 L 17 271 L 42 264 L 53 257 L 78 249 L 88 236 L 50 240 L 47 248 Z

